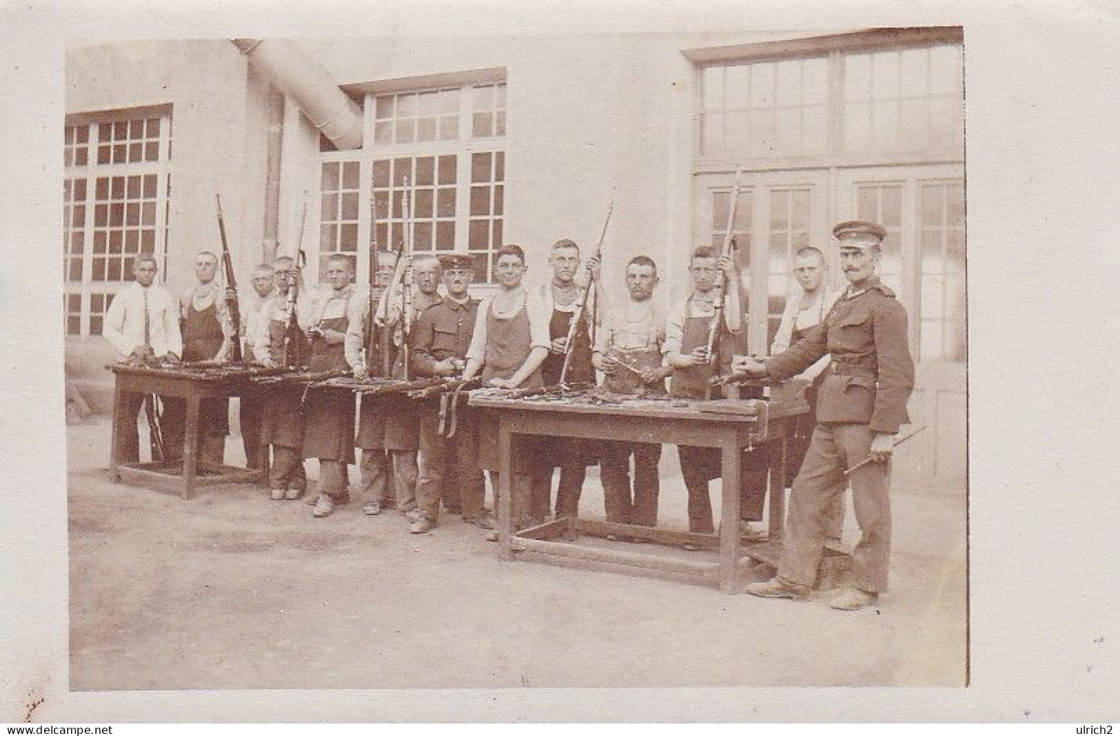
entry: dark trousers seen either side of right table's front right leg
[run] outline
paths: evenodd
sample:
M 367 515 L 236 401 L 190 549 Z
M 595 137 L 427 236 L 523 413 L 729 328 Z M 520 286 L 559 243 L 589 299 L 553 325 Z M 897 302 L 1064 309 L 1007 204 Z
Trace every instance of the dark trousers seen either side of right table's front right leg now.
M 681 475 L 689 492 L 689 531 L 710 534 L 716 531 L 711 515 L 708 482 L 720 476 L 720 450 L 711 447 L 679 445 Z M 743 453 L 739 465 L 739 519 L 758 521 L 763 516 L 766 482 L 769 477 L 769 447 L 762 445 Z

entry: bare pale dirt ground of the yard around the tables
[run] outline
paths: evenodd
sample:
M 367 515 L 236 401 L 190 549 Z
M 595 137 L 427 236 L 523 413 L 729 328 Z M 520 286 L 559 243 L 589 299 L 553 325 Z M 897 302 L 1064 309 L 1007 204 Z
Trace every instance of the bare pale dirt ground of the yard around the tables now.
M 890 593 L 841 613 L 505 560 L 456 516 L 412 535 L 360 501 L 327 519 L 248 485 L 181 501 L 111 483 L 109 436 L 67 428 L 74 690 L 964 684 L 960 490 L 894 490 Z M 675 456 L 660 519 L 683 529 Z M 580 513 L 603 516 L 594 471 Z

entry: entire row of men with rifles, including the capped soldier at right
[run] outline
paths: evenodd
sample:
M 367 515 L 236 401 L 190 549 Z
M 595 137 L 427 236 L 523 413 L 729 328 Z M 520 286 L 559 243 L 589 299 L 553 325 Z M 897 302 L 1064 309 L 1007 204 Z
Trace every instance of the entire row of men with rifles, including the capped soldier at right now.
M 370 309 L 370 294 L 355 288 L 353 263 L 345 255 L 328 258 L 328 291 L 305 294 L 300 289 L 298 299 L 288 298 L 289 289 L 297 288 L 290 278 L 295 264 L 291 259 L 277 259 L 253 274 L 255 294 L 242 306 L 240 338 L 245 342 L 246 357 L 264 365 L 353 371 L 358 379 L 385 375 L 386 370 L 391 378 L 478 378 L 484 386 L 503 389 L 543 388 L 559 383 L 561 374 L 567 384 L 594 384 L 598 373 L 604 376 L 603 386 L 613 393 L 704 399 L 713 363 L 724 373 L 772 380 L 802 374 L 811 381 L 808 395 L 815 413 L 795 432 L 792 465 L 801 471 L 793 481 L 784 556 L 778 575 L 748 591 L 765 597 L 808 593 L 824 544 L 840 535 L 841 496 L 850 482 L 862 535 L 852 556 L 853 585 L 832 605 L 855 609 L 886 589 L 890 535 L 886 460 L 899 425 L 906 421 L 914 367 L 907 350 L 906 311 L 876 276 L 885 231 L 874 223 L 849 222 L 837 225 L 833 236 L 847 290 L 829 292 L 823 286 L 823 253 L 801 249 L 794 263 L 800 288 L 787 302 L 772 345 L 774 355 L 765 362 L 734 355 L 738 343 L 734 336 L 743 328 L 734 258 L 719 255 L 710 246 L 697 248 L 689 263 L 690 292 L 681 304 L 665 309 L 654 296 L 660 277 L 653 259 L 636 255 L 627 262 L 626 296 L 617 298 L 613 285 L 601 283 L 598 258 L 585 263 L 579 245 L 570 240 L 552 245 L 551 278 L 540 290 L 524 283 L 522 249 L 501 248 L 494 254 L 496 289 L 480 302 L 468 294 L 473 259 L 465 253 L 399 260 L 393 253 L 381 253 L 376 288 L 384 294 L 376 309 Z M 152 285 L 155 262 L 138 259 L 137 283 L 118 296 L 106 315 L 105 334 L 122 356 L 147 350 L 185 360 L 221 358 L 224 343 L 234 336 L 224 319 L 223 295 L 213 287 L 212 260 L 216 267 L 212 254 L 199 254 L 198 286 L 179 305 Z M 581 308 L 584 269 L 595 289 L 594 320 Z M 411 273 L 410 299 L 401 298 L 405 271 Z M 142 328 L 137 327 L 138 315 L 142 315 Z M 709 330 L 717 317 L 725 338 L 716 342 L 717 354 L 708 355 Z M 575 328 L 573 320 L 578 320 Z M 385 332 L 376 354 L 372 346 L 377 341 L 371 339 L 374 329 Z M 457 429 L 447 437 L 441 431 L 438 399 L 376 397 L 361 400 L 355 411 L 354 397 L 346 389 L 304 393 L 302 388 L 281 385 L 242 401 L 242 436 L 250 463 L 271 447 L 273 500 L 304 496 L 304 460 L 316 458 L 319 481 L 309 502 L 315 504 L 315 516 L 329 515 L 338 503 L 348 501 L 347 466 L 358 447 L 366 514 L 395 509 L 408 520 L 410 531 L 420 534 L 438 525 L 442 510 L 461 514 L 465 522 L 483 528 L 488 539 L 497 539 L 496 524 L 484 505 L 483 471 L 491 473 L 495 495 L 498 488 L 497 431 L 492 418 L 460 406 Z M 223 411 L 215 402 L 202 412 L 200 432 L 209 442 L 202 446 L 212 451 L 220 451 L 217 440 L 227 431 L 224 417 L 218 416 Z M 134 422 L 131 431 L 134 436 Z M 656 525 L 661 445 L 613 441 L 590 447 L 576 439 L 529 437 L 517 441 L 511 479 L 514 527 L 577 514 L 590 464 L 600 466 L 608 521 Z M 719 477 L 719 454 L 688 446 L 678 451 L 688 490 L 689 529 L 711 533 L 708 485 Z M 871 462 L 853 469 L 850 477 L 844 474 L 867 458 Z M 553 502 L 557 468 L 560 478 Z M 762 518 L 767 448 L 745 455 L 744 468 L 741 531 L 757 535 L 762 532 L 749 522 Z M 493 501 L 496 507 L 497 499 Z

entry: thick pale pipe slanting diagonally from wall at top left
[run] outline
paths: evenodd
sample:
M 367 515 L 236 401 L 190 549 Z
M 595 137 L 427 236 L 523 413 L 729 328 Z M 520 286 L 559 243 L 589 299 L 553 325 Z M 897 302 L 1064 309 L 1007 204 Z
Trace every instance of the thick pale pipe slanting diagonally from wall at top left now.
M 235 38 L 233 45 L 299 105 L 335 148 L 362 148 L 362 108 L 290 40 Z

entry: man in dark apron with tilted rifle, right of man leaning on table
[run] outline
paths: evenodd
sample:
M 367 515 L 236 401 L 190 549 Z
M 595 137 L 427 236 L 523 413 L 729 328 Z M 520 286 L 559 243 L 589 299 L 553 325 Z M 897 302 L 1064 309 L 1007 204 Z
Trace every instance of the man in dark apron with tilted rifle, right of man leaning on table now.
M 551 343 L 549 354 L 541 364 L 541 374 L 544 376 L 545 385 L 554 385 L 560 383 L 568 333 L 578 307 L 580 292 L 575 276 L 580 264 L 579 245 L 567 239 L 557 241 L 552 245 L 549 264 L 552 267 L 552 280 L 542 289 L 541 296 L 544 299 L 545 313 L 549 315 Z M 595 279 L 594 283 L 597 286 L 598 280 Z M 580 324 L 576 327 L 575 345 L 564 376 L 567 383 L 595 383 L 587 317 L 585 311 L 580 317 Z M 541 438 L 541 455 L 539 463 L 533 467 L 531 514 L 534 522 L 543 522 L 551 511 L 552 473 L 557 467 L 560 468 L 560 485 L 557 487 L 556 518 L 577 514 L 579 496 L 587 476 L 589 449 L 585 442 L 570 437 Z

